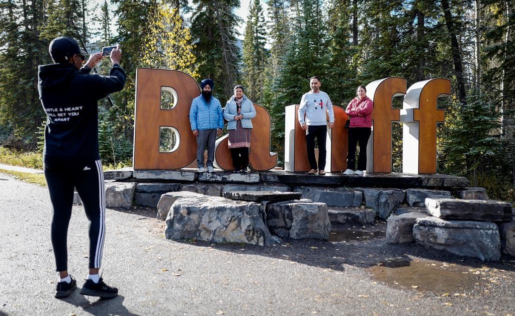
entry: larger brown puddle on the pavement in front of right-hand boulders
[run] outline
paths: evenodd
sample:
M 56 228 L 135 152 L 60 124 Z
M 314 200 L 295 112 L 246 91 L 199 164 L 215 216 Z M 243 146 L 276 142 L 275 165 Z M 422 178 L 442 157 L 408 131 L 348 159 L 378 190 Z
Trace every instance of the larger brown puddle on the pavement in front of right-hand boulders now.
M 469 293 L 479 284 L 479 276 L 468 267 L 416 261 L 386 261 L 369 268 L 372 277 L 392 288 L 416 289 L 437 295 Z

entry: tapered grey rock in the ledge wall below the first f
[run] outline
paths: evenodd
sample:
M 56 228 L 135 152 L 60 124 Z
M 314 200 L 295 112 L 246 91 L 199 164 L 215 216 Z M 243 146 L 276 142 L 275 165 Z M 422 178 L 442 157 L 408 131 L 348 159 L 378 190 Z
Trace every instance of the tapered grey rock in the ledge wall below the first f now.
M 380 218 L 388 218 L 391 211 L 404 202 L 406 192 L 401 189 L 361 188 L 365 204 Z

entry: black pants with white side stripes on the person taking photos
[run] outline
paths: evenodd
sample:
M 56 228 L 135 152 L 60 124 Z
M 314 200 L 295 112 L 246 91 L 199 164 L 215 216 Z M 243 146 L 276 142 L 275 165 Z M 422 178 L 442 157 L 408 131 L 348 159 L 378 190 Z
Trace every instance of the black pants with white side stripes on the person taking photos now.
M 56 257 L 56 271 L 68 270 L 67 235 L 72 216 L 74 187 L 90 221 L 89 268 L 100 268 L 106 233 L 104 172 L 100 160 L 77 167 L 45 164 L 44 172 L 54 208 L 50 235 Z

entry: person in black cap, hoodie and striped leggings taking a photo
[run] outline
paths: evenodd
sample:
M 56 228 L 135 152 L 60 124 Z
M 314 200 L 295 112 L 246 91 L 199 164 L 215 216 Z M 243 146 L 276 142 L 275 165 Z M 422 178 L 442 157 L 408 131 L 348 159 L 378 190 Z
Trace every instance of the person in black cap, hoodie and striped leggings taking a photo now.
M 54 39 L 48 51 L 54 64 L 39 66 L 38 90 L 48 116 L 43 161 L 54 210 L 51 236 L 60 276 L 55 296 L 66 297 L 77 288 L 68 274 L 66 245 L 75 187 L 90 221 L 89 274 L 80 293 L 115 297 L 118 290 L 98 275 L 105 237 L 105 190 L 98 152 L 97 101 L 123 89 L 122 51 L 119 47 L 112 50 L 109 76 L 90 74 L 104 58 L 101 52 L 92 54 L 81 68 L 85 57 L 72 38 Z

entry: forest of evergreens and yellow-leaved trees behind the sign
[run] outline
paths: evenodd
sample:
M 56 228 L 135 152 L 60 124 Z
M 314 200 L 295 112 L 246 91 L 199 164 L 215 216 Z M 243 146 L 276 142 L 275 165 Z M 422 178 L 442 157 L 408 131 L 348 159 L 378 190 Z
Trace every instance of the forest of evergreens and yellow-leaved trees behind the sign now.
M 101 159 L 113 167 L 132 165 L 136 67 L 212 78 L 222 104 L 235 84 L 245 86 L 270 112 L 279 165 L 284 109 L 310 89 L 311 76 L 321 77 L 321 89 L 344 108 L 358 85 L 377 79 L 399 76 L 409 87 L 447 78 L 452 96 L 438 103 L 446 111 L 438 173 L 465 176 L 490 198 L 514 200 L 512 0 L 267 0 L 266 6 L 250 0 L 247 15 L 237 16 L 239 6 L 239 0 L 2 0 L 0 145 L 41 152 L 46 116 L 38 65 L 51 63 L 50 40 L 70 36 L 90 54 L 122 46 L 126 87 L 99 102 Z M 107 74 L 110 62 L 97 68 Z M 171 101 L 162 95 L 163 103 Z M 393 101 L 402 108 L 402 97 Z M 393 171 L 401 172 L 402 124 L 392 130 Z M 162 141 L 173 142 L 169 136 Z

